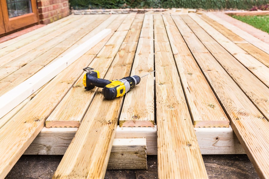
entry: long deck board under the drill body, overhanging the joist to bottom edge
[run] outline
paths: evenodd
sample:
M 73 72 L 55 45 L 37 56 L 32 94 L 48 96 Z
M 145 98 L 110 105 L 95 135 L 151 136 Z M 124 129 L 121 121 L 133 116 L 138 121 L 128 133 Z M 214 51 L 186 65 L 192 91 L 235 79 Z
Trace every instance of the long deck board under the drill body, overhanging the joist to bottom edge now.
M 141 19 L 140 23 L 132 24 L 106 79 L 120 79 L 130 74 L 143 14 L 137 18 Z M 133 30 L 138 29 L 137 26 L 140 30 Z M 98 89 L 53 178 L 104 178 L 122 103 L 123 98 L 104 99 Z

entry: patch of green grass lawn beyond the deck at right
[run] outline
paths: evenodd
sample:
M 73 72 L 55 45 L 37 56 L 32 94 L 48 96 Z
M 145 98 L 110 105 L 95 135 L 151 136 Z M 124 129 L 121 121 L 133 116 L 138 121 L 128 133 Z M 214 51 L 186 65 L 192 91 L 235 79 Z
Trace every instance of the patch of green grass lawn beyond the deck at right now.
M 257 29 L 269 33 L 269 15 L 265 16 L 232 16 L 242 22 L 252 25 Z

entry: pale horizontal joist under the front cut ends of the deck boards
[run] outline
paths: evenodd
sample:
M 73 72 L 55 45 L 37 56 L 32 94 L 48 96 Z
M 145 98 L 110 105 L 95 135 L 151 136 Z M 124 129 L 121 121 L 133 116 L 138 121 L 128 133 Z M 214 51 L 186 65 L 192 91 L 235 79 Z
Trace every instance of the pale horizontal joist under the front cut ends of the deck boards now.
M 242 145 L 231 127 L 204 127 L 194 128 L 194 130 L 202 155 L 245 154 Z M 44 127 L 24 154 L 64 155 L 76 132 L 76 127 Z M 116 138 L 145 138 L 147 155 L 157 155 L 157 126 L 117 126 Z

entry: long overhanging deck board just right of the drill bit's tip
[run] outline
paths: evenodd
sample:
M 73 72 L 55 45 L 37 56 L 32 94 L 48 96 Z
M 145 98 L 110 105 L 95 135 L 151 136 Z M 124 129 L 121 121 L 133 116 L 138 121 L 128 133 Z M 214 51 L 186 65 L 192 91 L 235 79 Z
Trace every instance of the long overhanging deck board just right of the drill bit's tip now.
M 154 15 L 154 38 L 158 176 L 208 178 L 160 15 Z

